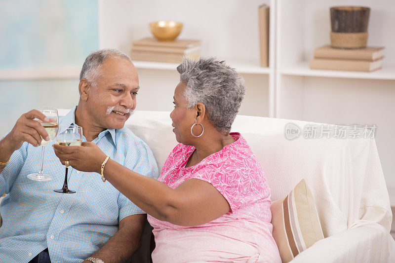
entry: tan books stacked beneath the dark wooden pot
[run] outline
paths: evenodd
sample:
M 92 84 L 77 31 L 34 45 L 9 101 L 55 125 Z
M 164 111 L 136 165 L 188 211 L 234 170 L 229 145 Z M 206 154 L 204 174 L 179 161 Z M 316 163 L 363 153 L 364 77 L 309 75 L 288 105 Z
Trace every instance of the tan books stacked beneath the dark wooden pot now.
M 316 70 L 375 71 L 381 69 L 384 47 L 339 49 L 329 45 L 318 47 L 310 68 Z

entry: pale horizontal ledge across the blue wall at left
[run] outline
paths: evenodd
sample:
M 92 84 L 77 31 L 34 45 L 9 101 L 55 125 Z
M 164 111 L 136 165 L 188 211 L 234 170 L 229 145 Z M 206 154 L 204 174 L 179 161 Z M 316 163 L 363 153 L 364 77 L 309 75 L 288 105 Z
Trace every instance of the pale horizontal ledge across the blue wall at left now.
M 79 78 L 81 69 L 20 69 L 0 70 L 0 80 Z

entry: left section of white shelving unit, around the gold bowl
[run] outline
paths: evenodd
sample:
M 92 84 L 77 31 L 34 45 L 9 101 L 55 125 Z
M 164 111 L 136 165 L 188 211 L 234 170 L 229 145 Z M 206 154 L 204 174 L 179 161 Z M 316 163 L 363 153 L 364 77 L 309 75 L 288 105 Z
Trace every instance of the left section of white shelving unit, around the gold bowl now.
M 272 7 L 268 68 L 259 65 L 258 6 L 263 3 Z M 247 95 L 240 113 L 274 117 L 275 4 L 275 0 L 99 0 L 99 46 L 129 53 L 133 40 L 151 36 L 150 22 L 181 21 L 184 28 L 179 38 L 201 39 L 202 55 L 225 60 L 244 77 Z M 172 92 L 179 82 L 178 64 L 135 61 L 135 66 L 143 87 L 139 109 L 170 110 Z

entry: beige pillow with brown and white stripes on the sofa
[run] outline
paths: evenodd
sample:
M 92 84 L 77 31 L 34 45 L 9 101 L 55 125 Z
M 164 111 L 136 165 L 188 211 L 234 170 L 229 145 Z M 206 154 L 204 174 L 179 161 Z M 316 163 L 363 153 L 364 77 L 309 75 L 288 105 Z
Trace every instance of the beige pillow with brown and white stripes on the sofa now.
M 273 237 L 283 263 L 324 238 L 313 194 L 304 179 L 285 198 L 274 201 L 270 209 Z

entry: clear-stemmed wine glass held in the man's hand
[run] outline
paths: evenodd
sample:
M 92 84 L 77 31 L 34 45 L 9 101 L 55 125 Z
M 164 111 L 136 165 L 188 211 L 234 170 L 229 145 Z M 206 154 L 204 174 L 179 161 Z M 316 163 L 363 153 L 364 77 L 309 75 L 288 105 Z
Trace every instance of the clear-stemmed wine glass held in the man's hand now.
M 55 139 L 57 133 L 58 133 L 58 128 L 59 128 L 59 116 L 58 116 L 58 110 L 55 108 L 49 108 L 49 107 L 39 107 L 37 108 L 38 111 L 43 113 L 45 116 L 49 118 L 49 122 L 42 122 L 40 119 L 35 119 L 41 123 L 41 125 L 44 127 L 44 129 L 47 131 L 48 136 L 49 136 L 49 141 L 45 141 L 41 137 L 41 166 L 40 166 L 40 171 L 38 173 L 33 173 L 29 174 L 28 178 L 33 181 L 39 181 L 39 182 L 44 182 L 44 181 L 51 181 L 53 179 L 52 176 L 44 174 L 42 172 L 42 166 L 44 164 L 44 148 L 45 145 L 50 143 L 53 139 Z

